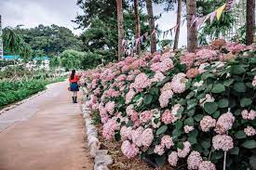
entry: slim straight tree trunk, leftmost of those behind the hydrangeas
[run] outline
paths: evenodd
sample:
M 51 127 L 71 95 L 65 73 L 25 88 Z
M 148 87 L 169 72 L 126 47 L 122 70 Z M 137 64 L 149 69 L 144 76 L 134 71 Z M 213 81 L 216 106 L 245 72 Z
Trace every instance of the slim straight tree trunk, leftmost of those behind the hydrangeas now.
M 118 60 L 123 56 L 123 38 L 124 38 L 124 26 L 123 26 L 123 4 L 122 0 L 116 0 L 117 8 L 117 27 L 118 27 Z

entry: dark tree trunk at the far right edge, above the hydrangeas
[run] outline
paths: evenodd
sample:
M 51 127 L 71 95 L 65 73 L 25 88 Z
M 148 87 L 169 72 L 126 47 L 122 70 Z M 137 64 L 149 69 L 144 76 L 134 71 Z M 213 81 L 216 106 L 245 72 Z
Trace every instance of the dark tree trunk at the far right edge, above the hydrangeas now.
M 253 43 L 255 28 L 255 0 L 247 0 L 246 12 L 246 44 L 249 46 Z

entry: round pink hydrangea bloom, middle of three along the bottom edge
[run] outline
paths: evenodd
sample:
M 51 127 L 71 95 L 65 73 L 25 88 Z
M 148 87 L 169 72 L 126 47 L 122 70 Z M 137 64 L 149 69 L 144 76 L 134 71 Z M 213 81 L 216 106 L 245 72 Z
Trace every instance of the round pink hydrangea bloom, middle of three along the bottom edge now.
M 198 169 L 200 163 L 203 159 L 198 151 L 192 151 L 187 158 L 187 168 L 188 169 Z

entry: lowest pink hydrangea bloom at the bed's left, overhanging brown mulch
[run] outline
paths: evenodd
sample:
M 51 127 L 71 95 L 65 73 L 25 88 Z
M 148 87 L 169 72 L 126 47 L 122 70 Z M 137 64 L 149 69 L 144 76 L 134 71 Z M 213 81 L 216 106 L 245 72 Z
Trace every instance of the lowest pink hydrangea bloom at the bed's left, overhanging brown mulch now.
M 126 157 L 128 157 L 128 159 L 134 158 L 135 156 L 138 155 L 138 153 L 140 151 L 139 148 L 135 144 L 130 144 L 130 142 L 128 140 L 126 140 L 122 143 L 121 150 L 122 150 L 123 154 Z

